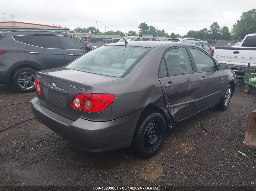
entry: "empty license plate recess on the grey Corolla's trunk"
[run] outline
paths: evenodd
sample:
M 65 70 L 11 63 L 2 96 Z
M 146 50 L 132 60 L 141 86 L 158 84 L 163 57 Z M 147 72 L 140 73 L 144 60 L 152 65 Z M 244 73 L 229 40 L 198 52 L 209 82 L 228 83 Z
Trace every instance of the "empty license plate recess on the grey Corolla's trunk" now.
M 52 89 L 50 84 L 43 84 L 43 92 L 49 103 L 65 108 L 67 103 L 67 91 L 61 88 Z

